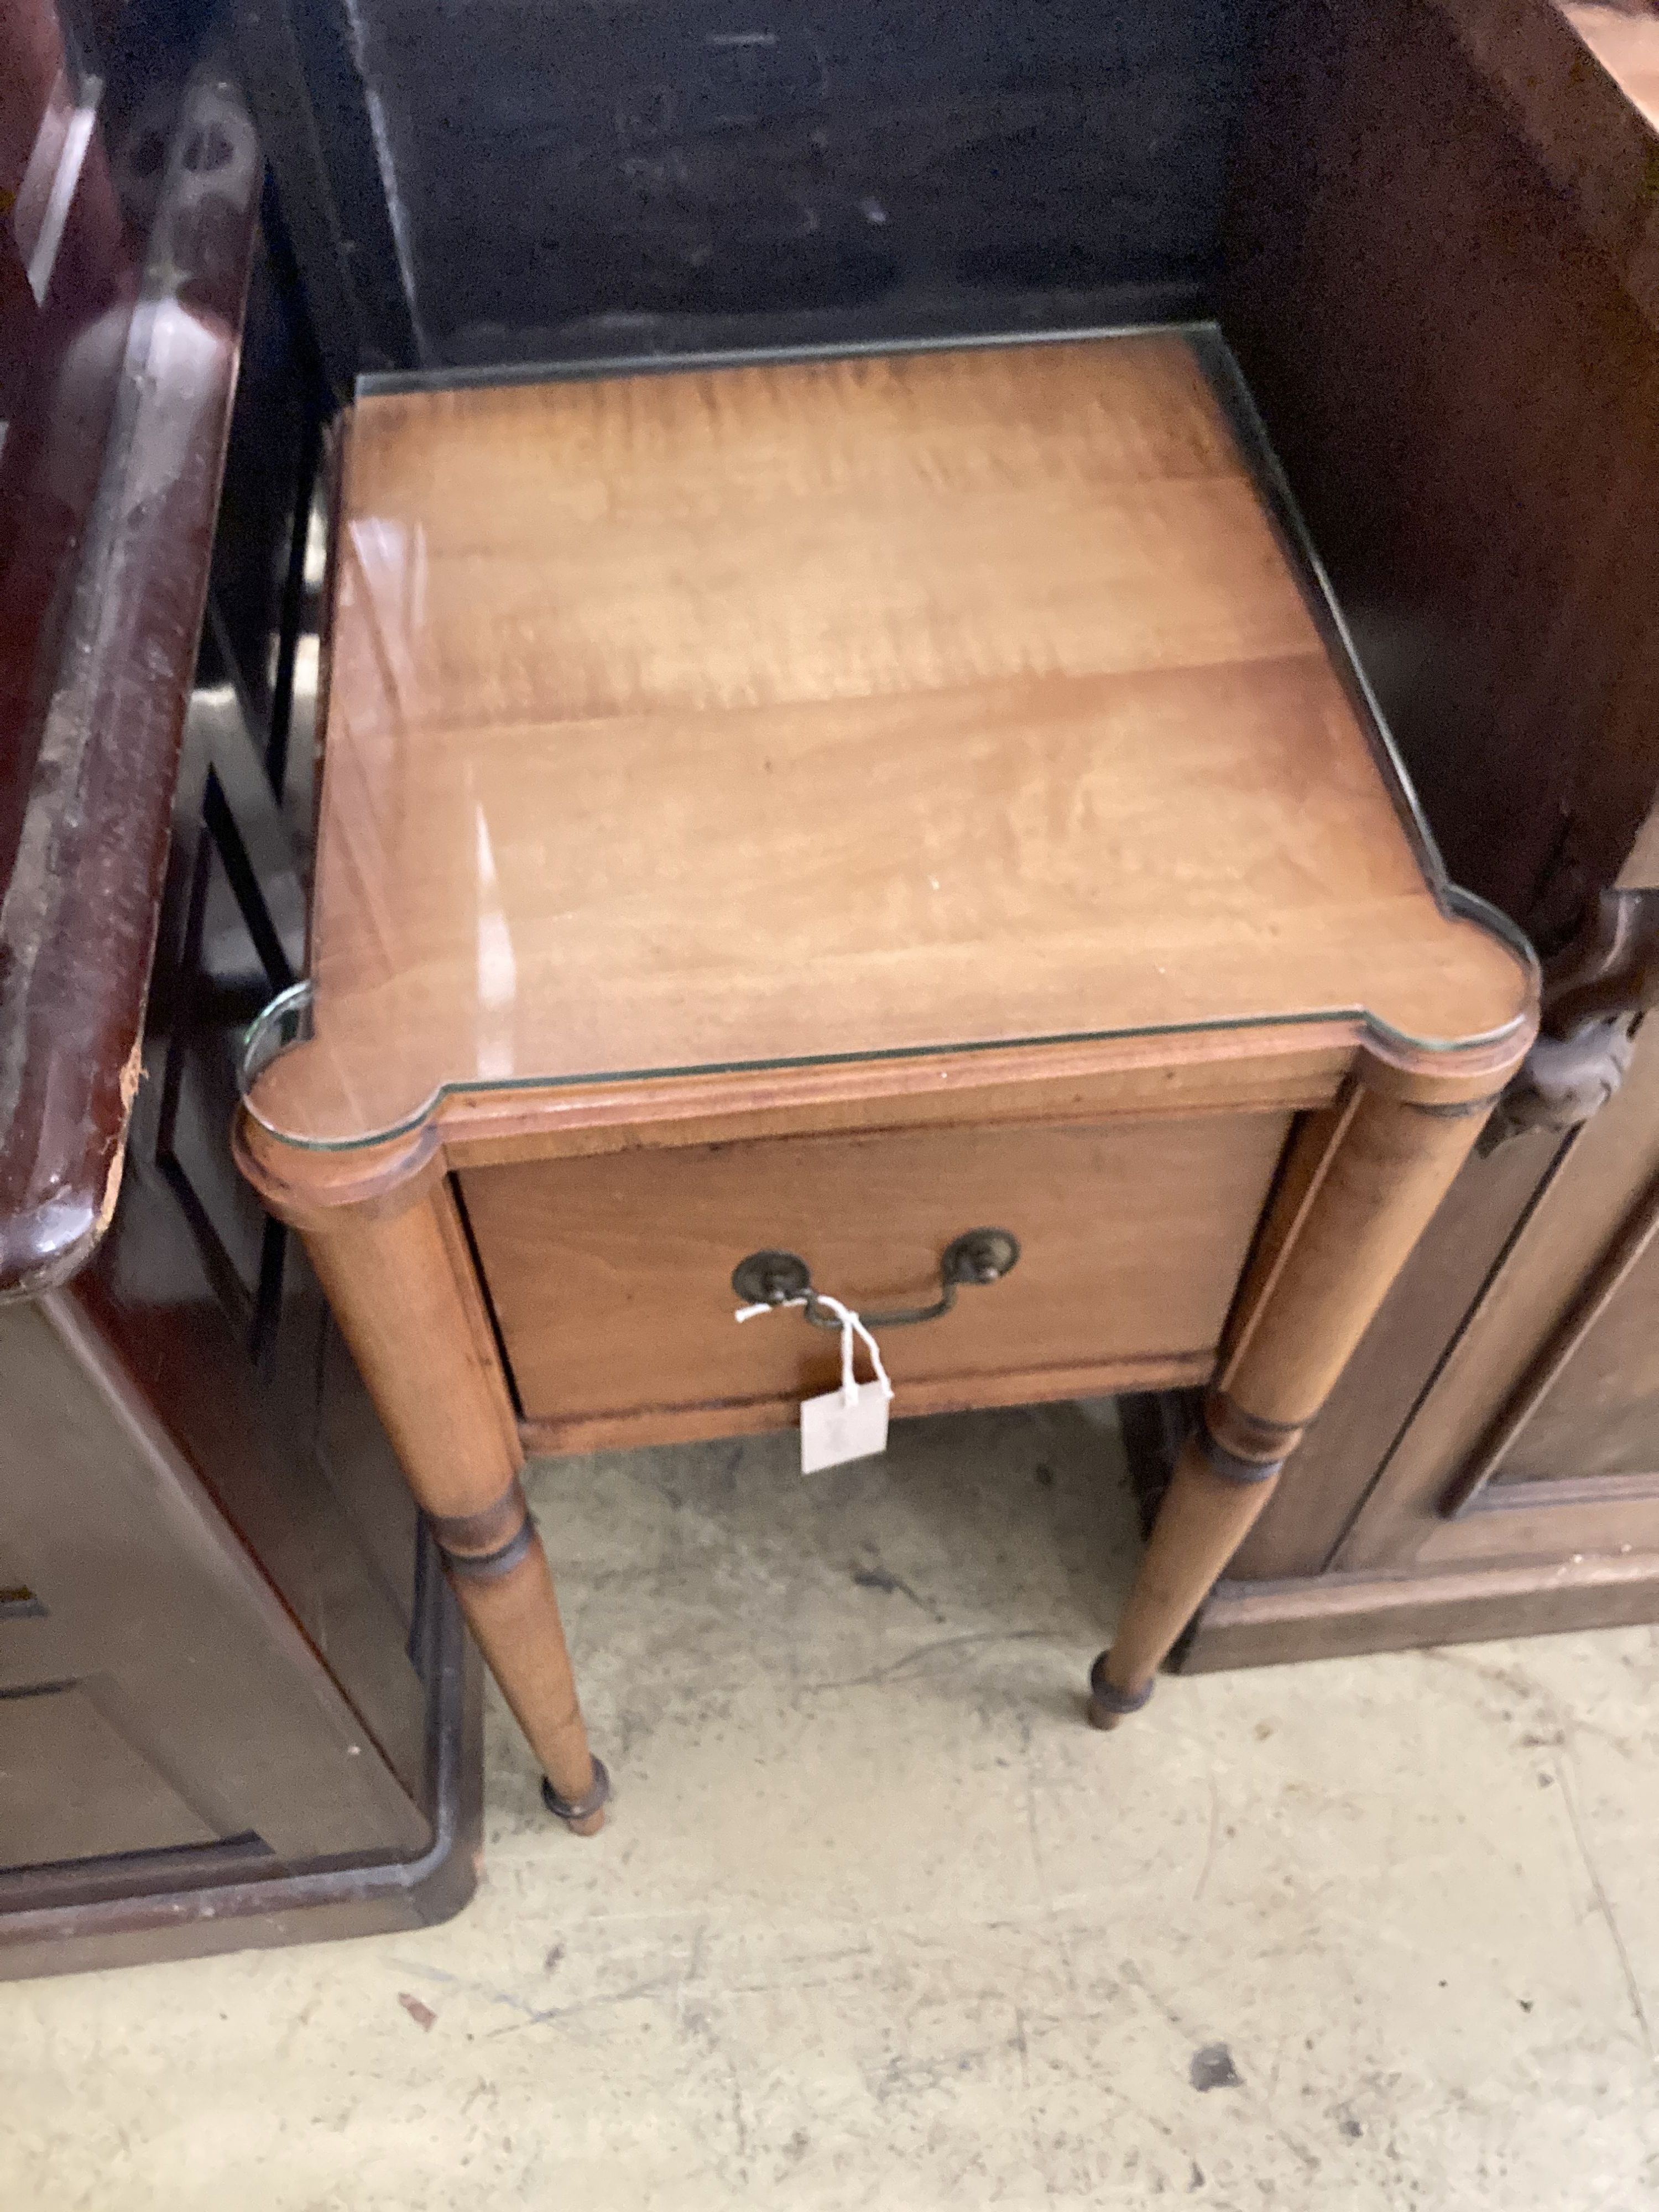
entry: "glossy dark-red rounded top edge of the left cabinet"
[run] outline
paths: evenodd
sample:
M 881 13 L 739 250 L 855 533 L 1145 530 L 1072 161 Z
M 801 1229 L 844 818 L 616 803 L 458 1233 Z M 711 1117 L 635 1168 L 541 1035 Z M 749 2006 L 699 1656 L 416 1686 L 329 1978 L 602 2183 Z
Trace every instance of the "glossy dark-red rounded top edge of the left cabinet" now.
M 177 153 L 204 128 L 248 148 L 219 170 L 212 219 Z M 241 95 L 210 62 L 192 69 L 173 137 L 0 885 L 0 1296 L 51 1290 L 97 1248 L 137 1091 L 263 173 Z M 84 407 L 71 392 L 55 405 Z

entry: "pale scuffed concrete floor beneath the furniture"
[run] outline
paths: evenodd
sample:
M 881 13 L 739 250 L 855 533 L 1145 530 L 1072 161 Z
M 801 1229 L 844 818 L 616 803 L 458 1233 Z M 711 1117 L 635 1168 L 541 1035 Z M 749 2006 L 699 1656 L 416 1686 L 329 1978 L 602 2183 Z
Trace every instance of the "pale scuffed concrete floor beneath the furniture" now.
M 544 1464 L 597 1843 L 491 1712 L 422 1936 L 0 1986 L 18 2212 L 1659 2203 L 1652 1630 L 1079 1688 L 1110 1413 Z

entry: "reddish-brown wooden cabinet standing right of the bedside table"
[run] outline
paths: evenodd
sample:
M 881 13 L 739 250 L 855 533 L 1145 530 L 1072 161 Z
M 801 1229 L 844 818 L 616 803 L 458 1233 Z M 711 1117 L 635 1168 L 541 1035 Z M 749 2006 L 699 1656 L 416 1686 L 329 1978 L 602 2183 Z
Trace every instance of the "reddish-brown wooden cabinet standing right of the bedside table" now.
M 1190 1668 L 1659 1617 L 1652 1042 L 1584 1119 L 1659 987 L 1655 62 L 1648 13 L 1336 0 L 1283 15 L 1263 80 L 1301 157 L 1241 161 L 1228 330 L 1442 847 L 1551 953 L 1553 1060 Z M 1378 453 L 1407 495 L 1367 498 Z M 1155 1489 L 1159 1429 L 1133 1427 Z

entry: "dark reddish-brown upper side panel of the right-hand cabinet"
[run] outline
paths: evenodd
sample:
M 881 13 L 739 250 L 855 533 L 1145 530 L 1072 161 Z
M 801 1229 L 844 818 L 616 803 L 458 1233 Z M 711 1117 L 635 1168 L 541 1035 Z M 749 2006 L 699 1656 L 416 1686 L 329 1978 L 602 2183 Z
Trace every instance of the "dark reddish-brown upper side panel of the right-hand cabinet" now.
M 1540 933 L 1659 783 L 1659 146 L 1546 0 L 1279 0 L 1223 327 L 1453 876 Z

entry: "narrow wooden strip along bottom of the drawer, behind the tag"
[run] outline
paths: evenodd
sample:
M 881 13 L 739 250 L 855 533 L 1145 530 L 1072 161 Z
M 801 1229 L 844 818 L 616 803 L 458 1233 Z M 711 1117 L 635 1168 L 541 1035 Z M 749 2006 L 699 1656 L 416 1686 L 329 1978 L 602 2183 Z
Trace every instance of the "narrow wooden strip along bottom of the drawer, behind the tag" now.
M 1062 1405 L 1068 1398 L 1115 1398 L 1126 1389 L 1179 1389 L 1203 1383 L 1214 1352 L 1148 1352 L 1144 1358 L 1088 1367 L 1026 1367 L 1013 1374 L 900 1383 L 894 1420 L 925 1413 L 973 1413 L 1002 1405 Z M 792 1429 L 801 1398 L 723 1398 L 710 1405 L 664 1405 L 637 1413 L 526 1416 L 518 1425 L 526 1455 L 575 1458 L 586 1451 L 635 1451 L 641 1444 L 703 1444 L 728 1436 Z

